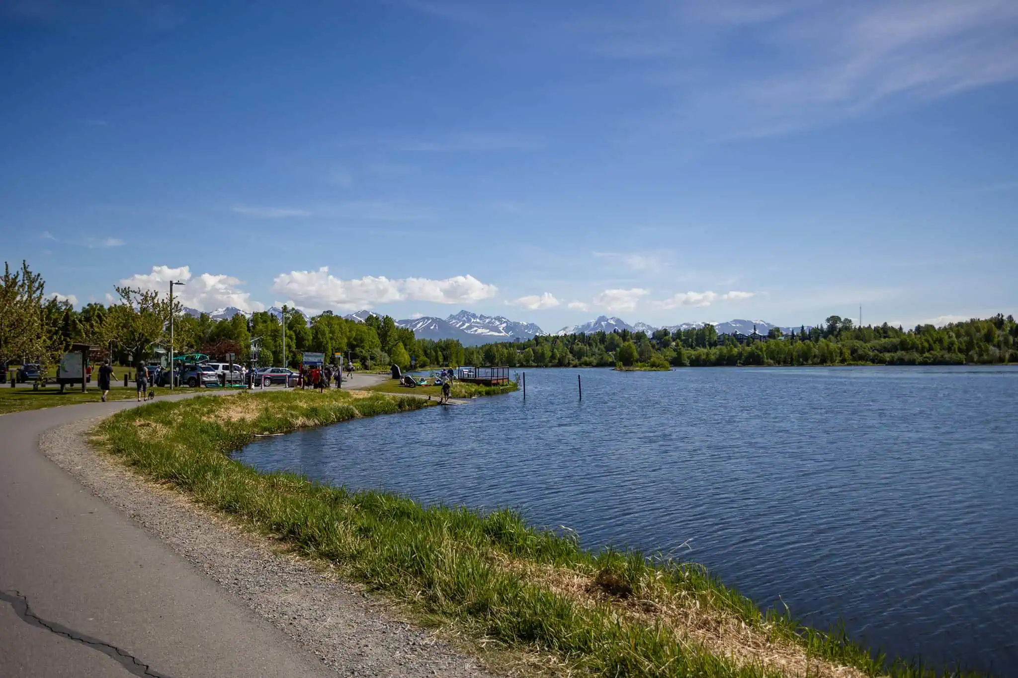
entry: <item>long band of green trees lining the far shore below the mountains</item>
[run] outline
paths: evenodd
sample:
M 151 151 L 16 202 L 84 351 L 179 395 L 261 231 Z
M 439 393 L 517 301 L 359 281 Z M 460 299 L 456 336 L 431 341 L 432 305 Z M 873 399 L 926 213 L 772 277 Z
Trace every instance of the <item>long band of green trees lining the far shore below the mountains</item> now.
M 52 365 L 72 343 L 98 345 L 121 364 L 150 360 L 157 347 L 169 347 L 169 319 L 174 318 L 176 353 L 196 352 L 218 360 L 233 353 L 238 362 L 250 357 L 251 340 L 260 340 L 260 366 L 283 365 L 283 325 L 276 314 L 253 313 L 229 320 L 183 314 L 162 293 L 117 288 L 119 300 L 90 303 L 80 310 L 47 298 L 45 282 L 27 263 L 0 279 L 0 360 Z M 526 342 L 463 347 L 456 340 L 416 338 L 389 316 L 365 322 L 325 311 L 305 316 L 285 309 L 286 363 L 299 365 L 304 352 L 349 356 L 362 366 L 408 368 L 458 365 L 510 367 L 699 367 L 721 365 L 962 365 L 1018 363 L 1018 324 L 1012 316 L 954 322 L 910 329 L 887 323 L 856 327 L 848 318 L 829 317 L 823 327 L 800 327 L 788 335 L 772 328 L 769 335 L 746 338 L 719 334 L 713 325 L 651 334 L 595 332 L 567 336 L 534 336 Z

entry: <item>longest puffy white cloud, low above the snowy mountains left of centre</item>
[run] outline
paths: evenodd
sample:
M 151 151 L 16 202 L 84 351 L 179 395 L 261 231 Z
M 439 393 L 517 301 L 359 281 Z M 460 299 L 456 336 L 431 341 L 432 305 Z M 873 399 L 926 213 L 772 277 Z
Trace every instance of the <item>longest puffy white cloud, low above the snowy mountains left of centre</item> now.
M 328 266 L 318 270 L 280 273 L 272 289 L 288 295 L 298 305 L 343 310 L 359 310 L 375 304 L 407 300 L 439 304 L 469 303 L 488 299 L 498 291 L 494 285 L 486 285 L 472 275 L 454 275 L 442 281 L 390 279 L 385 275 L 342 280 L 330 274 Z

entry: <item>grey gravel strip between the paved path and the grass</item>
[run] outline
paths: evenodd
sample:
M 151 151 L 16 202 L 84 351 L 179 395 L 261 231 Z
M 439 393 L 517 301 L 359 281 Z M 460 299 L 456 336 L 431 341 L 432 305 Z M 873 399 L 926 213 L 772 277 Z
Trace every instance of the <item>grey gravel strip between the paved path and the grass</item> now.
M 43 453 L 337 675 L 493 675 L 476 658 L 400 619 L 391 604 L 308 562 L 274 552 L 269 540 L 98 453 L 84 434 L 100 420 L 47 432 L 40 440 Z

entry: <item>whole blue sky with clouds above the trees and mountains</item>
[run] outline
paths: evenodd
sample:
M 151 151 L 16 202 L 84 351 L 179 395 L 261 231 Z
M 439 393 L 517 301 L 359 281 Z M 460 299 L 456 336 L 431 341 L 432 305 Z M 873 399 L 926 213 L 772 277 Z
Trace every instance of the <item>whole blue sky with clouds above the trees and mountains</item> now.
M 1018 3 L 0 3 L 48 290 L 546 329 L 1018 314 Z

